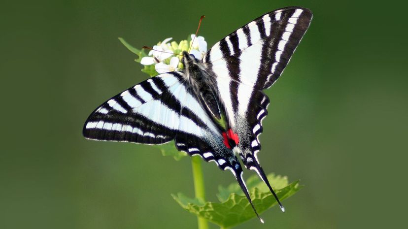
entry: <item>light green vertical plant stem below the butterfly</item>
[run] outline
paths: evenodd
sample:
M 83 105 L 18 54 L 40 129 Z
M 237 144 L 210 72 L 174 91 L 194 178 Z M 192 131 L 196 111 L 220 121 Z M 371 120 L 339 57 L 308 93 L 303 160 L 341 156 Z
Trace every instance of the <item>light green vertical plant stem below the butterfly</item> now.
M 196 198 L 201 201 L 205 201 L 205 188 L 204 188 L 204 176 L 203 169 L 201 168 L 202 159 L 198 156 L 194 156 L 191 159 L 191 165 L 193 167 L 193 180 L 194 180 L 194 192 Z M 208 222 L 202 218 L 198 218 L 198 229 L 208 229 Z

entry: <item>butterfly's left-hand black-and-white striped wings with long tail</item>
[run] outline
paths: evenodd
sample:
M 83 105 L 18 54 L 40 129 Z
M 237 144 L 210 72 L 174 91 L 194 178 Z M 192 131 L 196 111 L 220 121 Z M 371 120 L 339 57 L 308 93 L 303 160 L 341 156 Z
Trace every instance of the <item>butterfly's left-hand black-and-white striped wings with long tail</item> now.
M 220 130 L 199 101 L 188 92 L 182 74 L 160 74 L 110 98 L 89 116 L 83 135 L 94 140 L 143 144 L 174 139 L 178 150 L 230 170 L 252 204 L 238 158 L 224 145 Z

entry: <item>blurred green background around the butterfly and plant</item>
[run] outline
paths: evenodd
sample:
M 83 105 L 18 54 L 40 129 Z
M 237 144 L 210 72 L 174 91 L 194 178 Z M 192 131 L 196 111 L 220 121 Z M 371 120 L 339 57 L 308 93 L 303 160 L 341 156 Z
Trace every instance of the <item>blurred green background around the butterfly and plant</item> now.
M 306 187 L 239 229 L 399 228 L 406 217 L 406 6 L 383 1 L 27 1 L 0 9 L 1 229 L 194 229 L 170 194 L 193 196 L 189 158 L 85 140 L 87 116 L 146 79 L 135 47 L 208 45 L 276 8 L 313 21 L 267 94 L 260 160 Z M 203 164 L 207 198 L 234 182 Z M 253 171 L 247 171 L 246 177 Z M 401 226 L 400 226 L 401 224 Z M 405 225 L 405 223 L 404 223 Z M 212 227 L 216 228 L 216 227 Z

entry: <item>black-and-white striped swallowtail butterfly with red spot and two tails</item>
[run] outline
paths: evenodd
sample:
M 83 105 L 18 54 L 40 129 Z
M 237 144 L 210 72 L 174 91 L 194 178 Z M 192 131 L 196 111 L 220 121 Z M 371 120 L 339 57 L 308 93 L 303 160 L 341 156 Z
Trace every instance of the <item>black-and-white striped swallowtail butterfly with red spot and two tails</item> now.
M 269 105 L 263 90 L 282 74 L 311 18 L 306 8 L 277 9 L 221 39 L 203 60 L 184 52 L 184 70 L 159 74 L 107 100 L 89 116 L 83 135 L 143 144 L 174 140 L 178 150 L 230 170 L 258 216 L 238 154 L 284 211 L 257 159 Z

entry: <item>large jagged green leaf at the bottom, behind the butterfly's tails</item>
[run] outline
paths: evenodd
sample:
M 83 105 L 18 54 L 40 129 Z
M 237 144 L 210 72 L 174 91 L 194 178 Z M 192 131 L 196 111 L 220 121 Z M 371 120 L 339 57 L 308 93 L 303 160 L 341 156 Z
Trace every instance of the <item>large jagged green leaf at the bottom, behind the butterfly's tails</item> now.
M 268 180 L 273 184 L 272 187 L 280 200 L 294 195 L 303 187 L 299 185 L 299 181 L 289 184 L 287 177 L 284 176 L 269 174 Z M 248 178 L 246 184 L 259 214 L 277 204 L 268 187 L 257 175 Z M 172 196 L 187 211 L 222 228 L 232 228 L 256 217 L 248 200 L 235 183 L 227 188 L 219 187 L 217 197 L 220 202 L 203 203 L 197 198 L 192 199 L 181 193 Z

